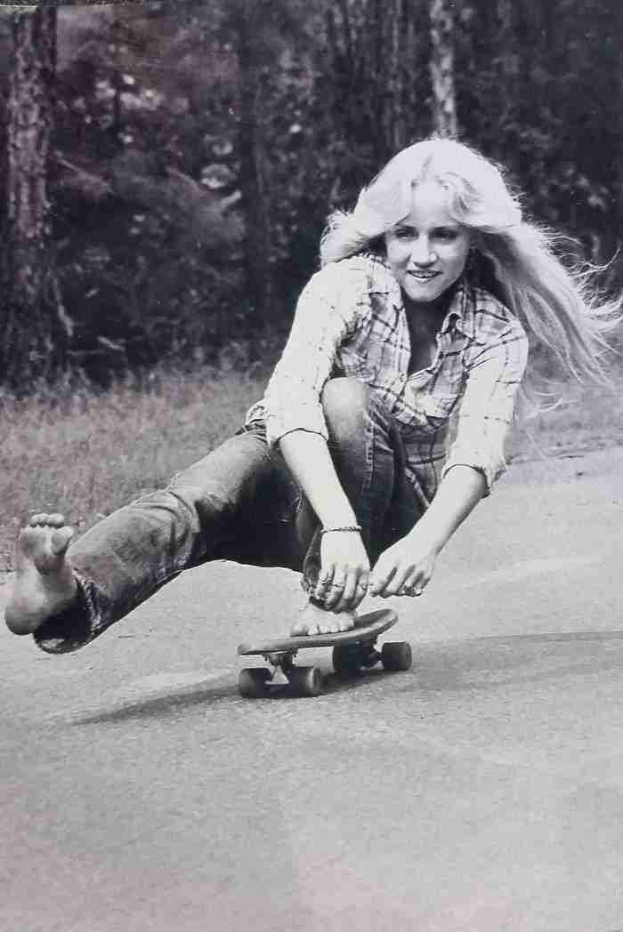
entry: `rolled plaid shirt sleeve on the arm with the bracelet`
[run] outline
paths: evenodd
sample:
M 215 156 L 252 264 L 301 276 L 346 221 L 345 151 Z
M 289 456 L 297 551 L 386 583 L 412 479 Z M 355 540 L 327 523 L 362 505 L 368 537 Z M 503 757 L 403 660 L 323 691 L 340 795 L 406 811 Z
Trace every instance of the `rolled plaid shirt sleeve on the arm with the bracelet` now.
M 330 263 L 312 276 L 298 298 L 292 330 L 264 395 L 271 445 L 292 431 L 328 438 L 320 393 L 341 342 L 369 311 L 367 276 L 348 261 Z

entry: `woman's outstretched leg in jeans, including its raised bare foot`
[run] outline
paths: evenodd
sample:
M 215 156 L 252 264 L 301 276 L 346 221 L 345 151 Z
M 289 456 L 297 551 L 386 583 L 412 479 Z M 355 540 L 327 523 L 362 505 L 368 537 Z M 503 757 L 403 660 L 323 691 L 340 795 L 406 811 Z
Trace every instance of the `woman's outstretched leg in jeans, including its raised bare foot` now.
M 76 650 L 183 569 L 216 556 L 235 558 L 236 540 L 248 540 L 249 524 L 280 504 L 278 473 L 263 438 L 243 433 L 178 473 L 167 488 L 109 515 L 69 549 L 71 529 L 60 527 L 59 515 L 31 524 L 18 541 L 8 626 L 35 632 L 45 650 Z M 261 543 L 258 532 L 257 552 Z M 245 556 L 253 562 L 248 546 Z

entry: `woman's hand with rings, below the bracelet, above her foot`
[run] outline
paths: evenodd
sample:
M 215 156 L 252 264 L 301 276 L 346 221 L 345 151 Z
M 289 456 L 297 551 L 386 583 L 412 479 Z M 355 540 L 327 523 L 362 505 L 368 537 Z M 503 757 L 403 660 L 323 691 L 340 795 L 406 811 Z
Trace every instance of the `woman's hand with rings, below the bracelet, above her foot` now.
M 331 611 L 354 610 L 367 593 L 370 562 L 361 534 L 329 531 L 320 548 L 321 569 L 314 598 Z

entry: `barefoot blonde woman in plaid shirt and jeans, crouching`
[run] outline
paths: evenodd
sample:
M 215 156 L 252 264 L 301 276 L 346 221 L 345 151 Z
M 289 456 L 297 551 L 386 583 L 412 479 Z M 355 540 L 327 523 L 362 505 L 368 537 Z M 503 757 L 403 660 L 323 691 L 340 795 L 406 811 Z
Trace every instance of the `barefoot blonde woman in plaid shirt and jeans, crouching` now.
M 330 218 L 321 257 L 241 432 L 71 547 L 61 515 L 21 531 L 12 631 L 75 650 L 214 559 L 302 569 L 296 633 L 352 627 L 367 593 L 422 594 L 504 472 L 529 338 L 566 373 L 606 378 L 618 305 L 590 296 L 463 144 L 400 152 Z

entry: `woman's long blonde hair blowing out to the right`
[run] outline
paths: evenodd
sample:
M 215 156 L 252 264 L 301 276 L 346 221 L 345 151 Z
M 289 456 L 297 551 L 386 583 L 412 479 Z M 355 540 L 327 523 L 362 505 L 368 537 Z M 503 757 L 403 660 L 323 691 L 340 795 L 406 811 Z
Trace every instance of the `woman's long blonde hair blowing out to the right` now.
M 467 145 L 428 139 L 399 152 L 362 190 L 353 212 L 331 214 L 323 265 L 380 249 L 383 234 L 410 212 L 413 186 L 424 179 L 447 192 L 450 215 L 472 233 L 477 261 L 468 266 L 488 269 L 491 290 L 533 345 L 553 354 L 562 374 L 608 384 L 605 335 L 620 322 L 621 298 L 605 300 L 590 267 L 563 264 L 557 251 L 564 238 L 524 219 L 502 171 Z M 547 382 L 554 380 L 547 375 Z

